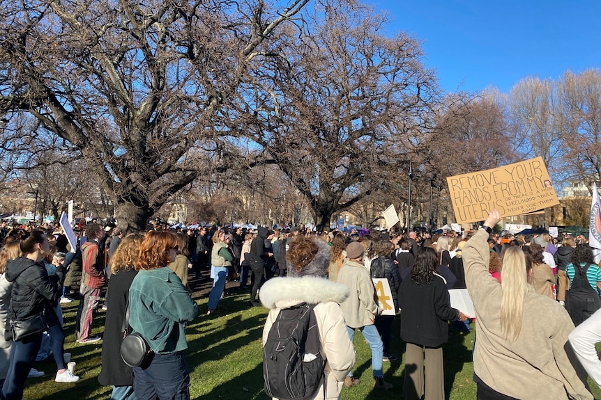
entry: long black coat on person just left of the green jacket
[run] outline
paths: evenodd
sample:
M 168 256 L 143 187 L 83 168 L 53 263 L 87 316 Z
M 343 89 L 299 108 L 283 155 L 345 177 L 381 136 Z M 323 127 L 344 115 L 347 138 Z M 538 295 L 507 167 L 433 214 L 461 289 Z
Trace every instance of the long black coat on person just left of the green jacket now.
M 105 334 L 102 336 L 102 367 L 98 382 L 101 385 L 129 386 L 133 384 L 132 368 L 121 359 L 123 318 L 132 280 L 137 271 L 120 271 L 109 280 Z

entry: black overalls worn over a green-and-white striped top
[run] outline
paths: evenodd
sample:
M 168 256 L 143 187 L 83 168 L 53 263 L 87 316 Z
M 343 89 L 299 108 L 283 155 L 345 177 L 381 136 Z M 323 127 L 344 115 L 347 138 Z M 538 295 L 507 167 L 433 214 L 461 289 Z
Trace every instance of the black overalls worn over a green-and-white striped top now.
M 595 311 L 601 308 L 601 298 L 586 279 L 586 271 L 591 264 L 574 266 L 575 273 L 570 290 L 565 292 L 565 308 L 572 317 L 575 326 L 579 326 Z

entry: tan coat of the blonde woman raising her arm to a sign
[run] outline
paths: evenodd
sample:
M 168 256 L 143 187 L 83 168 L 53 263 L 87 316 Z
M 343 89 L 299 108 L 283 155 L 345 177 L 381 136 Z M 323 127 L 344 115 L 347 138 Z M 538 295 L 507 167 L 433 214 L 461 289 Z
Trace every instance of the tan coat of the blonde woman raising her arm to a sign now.
M 474 372 L 492 389 L 517 399 L 563 400 L 569 394 L 592 400 L 566 353 L 568 346 L 573 355 L 568 334 L 574 324 L 559 303 L 528 285 L 522 330 L 515 342 L 503 336 L 501 284 L 488 272 L 488 237 L 480 229 L 463 248 L 466 285 L 476 310 Z

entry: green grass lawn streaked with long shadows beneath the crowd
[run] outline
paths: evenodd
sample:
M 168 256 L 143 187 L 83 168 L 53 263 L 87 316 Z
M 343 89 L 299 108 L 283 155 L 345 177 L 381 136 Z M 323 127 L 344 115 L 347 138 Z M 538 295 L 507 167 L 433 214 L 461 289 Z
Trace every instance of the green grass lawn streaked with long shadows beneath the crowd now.
M 190 394 L 192 399 L 268 399 L 263 393 L 261 332 L 267 310 L 248 307 L 248 294 L 227 296 L 218 307 L 218 314 L 207 317 L 207 297 L 197 299 L 199 317 L 188 326 L 186 362 L 190 369 Z M 80 345 L 75 342 L 75 312 L 77 301 L 63 304 L 65 318 L 65 351 L 77 362 L 77 383 L 55 383 L 56 365 L 36 362 L 34 367 L 46 374 L 42 378 L 29 378 L 24 399 L 100 400 L 109 399 L 111 387 L 101 386 L 101 345 Z M 94 320 L 93 335 L 102 335 L 105 313 L 98 312 Z M 390 392 L 372 392 L 370 348 L 360 333 L 355 335 L 357 361 L 354 376 L 361 378 L 360 385 L 343 389 L 342 399 L 400 399 L 403 382 L 404 343 L 399 338 L 399 320 L 395 319 L 391 342 L 393 352 L 400 356 L 395 362 L 384 363 L 386 381 L 395 388 Z M 473 332 L 466 335 L 451 330 L 444 347 L 445 390 L 450 400 L 476 399 L 476 385 L 472 381 Z M 101 343 L 101 342 L 100 342 Z M 595 399 L 601 399 L 601 390 L 589 380 Z

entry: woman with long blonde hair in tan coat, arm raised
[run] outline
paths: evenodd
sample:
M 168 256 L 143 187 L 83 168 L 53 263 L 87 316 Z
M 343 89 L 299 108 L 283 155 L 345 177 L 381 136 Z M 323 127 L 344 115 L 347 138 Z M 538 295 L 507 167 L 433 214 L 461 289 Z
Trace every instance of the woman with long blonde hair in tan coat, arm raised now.
M 575 355 L 565 346 L 574 323 L 559 303 L 528 284 L 532 270 L 522 249 L 505 250 L 502 285 L 490 275 L 487 239 L 499 221 L 499 211 L 490 211 L 462 249 L 476 311 L 473 370 L 478 399 L 593 399 L 577 374 Z

